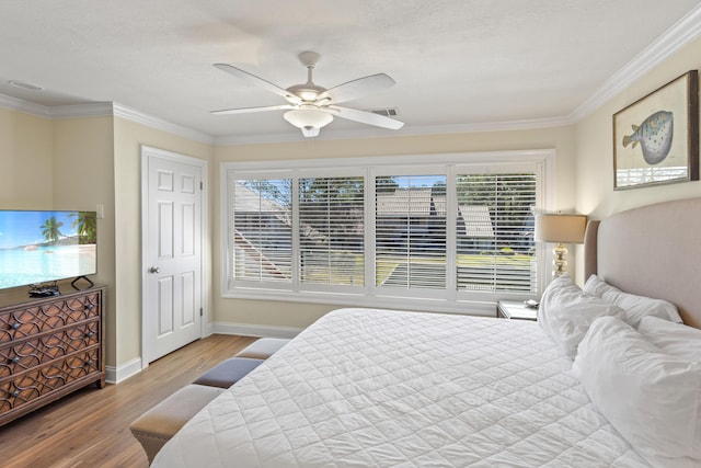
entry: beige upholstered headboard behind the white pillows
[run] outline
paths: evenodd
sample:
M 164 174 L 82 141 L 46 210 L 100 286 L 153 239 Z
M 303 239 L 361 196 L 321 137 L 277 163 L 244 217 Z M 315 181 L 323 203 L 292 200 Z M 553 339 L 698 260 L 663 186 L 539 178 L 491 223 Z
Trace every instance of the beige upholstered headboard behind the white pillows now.
M 593 273 L 628 293 L 669 300 L 685 323 L 701 328 L 701 198 L 589 222 L 585 278 Z

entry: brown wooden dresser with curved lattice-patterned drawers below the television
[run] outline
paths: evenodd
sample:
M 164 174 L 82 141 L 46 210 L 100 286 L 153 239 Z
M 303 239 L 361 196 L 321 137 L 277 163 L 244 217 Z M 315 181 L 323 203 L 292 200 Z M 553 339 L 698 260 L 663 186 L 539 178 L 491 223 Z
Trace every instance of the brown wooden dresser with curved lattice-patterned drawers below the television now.
M 87 385 L 105 386 L 103 293 L 0 307 L 0 425 Z

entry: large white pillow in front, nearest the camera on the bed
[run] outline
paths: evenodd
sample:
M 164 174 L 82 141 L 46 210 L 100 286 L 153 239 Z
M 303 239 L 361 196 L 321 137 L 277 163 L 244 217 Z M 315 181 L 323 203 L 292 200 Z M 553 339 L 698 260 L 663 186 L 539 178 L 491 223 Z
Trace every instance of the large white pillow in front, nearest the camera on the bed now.
M 653 466 L 701 464 L 701 364 L 663 353 L 631 326 L 602 317 L 575 365 L 591 401 Z

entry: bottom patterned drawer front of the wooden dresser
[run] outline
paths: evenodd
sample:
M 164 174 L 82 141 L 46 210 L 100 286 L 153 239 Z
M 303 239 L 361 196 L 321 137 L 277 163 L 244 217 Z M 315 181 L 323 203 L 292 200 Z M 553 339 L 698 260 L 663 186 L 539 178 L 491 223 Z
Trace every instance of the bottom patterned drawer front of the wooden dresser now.
M 81 377 L 100 372 L 97 347 L 0 381 L 0 412 L 20 408 Z

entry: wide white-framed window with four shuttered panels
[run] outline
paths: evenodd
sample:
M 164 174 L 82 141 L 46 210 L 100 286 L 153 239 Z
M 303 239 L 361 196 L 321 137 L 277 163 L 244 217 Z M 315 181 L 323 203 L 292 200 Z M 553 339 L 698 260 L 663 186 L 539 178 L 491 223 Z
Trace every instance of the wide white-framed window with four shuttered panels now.
M 532 296 L 551 159 L 225 163 L 225 296 L 446 311 Z

